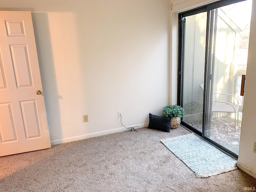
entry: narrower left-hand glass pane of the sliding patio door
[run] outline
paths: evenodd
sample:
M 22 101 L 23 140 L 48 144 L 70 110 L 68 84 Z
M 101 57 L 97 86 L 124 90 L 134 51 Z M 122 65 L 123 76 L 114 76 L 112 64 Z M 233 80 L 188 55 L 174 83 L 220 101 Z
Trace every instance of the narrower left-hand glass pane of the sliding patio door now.
M 182 20 L 183 36 L 183 122 L 202 132 L 207 12 L 186 16 Z

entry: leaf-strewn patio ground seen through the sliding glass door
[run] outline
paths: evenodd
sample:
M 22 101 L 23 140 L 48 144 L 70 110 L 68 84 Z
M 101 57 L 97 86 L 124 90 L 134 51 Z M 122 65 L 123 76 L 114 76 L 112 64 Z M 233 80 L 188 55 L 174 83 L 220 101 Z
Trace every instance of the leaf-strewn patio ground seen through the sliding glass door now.
M 188 124 L 202 132 L 202 121 Z M 205 135 L 208 138 L 235 154 L 238 154 L 239 152 L 240 133 L 241 121 L 238 121 L 235 132 L 234 119 L 230 116 L 212 119 L 210 129 L 205 131 Z

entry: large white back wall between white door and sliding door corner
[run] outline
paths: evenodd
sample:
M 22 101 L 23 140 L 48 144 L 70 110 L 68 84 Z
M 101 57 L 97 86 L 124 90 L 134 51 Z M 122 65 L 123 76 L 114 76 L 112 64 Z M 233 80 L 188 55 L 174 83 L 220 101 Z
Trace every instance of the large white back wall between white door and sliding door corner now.
M 0 10 L 32 12 L 52 144 L 124 130 L 119 110 L 126 126 L 161 115 L 170 100 L 169 7 L 169 0 L 0 1 Z

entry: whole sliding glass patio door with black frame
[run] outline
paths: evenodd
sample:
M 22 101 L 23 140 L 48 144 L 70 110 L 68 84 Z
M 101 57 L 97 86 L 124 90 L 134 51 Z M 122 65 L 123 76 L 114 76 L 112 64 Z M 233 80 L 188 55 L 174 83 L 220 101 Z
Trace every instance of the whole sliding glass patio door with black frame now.
M 179 14 L 182 125 L 236 158 L 251 6 L 252 0 L 223 0 Z

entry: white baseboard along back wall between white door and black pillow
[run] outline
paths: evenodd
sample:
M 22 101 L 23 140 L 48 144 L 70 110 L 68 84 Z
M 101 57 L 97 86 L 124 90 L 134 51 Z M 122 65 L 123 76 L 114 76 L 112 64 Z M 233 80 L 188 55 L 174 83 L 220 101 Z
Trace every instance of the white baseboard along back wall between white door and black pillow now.
M 132 125 L 132 126 L 127 126 L 127 127 L 134 127 L 134 126 L 138 126 L 139 128 L 148 127 L 148 123 L 147 124 Z M 80 135 L 80 136 L 75 136 L 75 137 L 70 137 L 70 138 L 53 140 L 53 141 L 51 141 L 51 145 L 68 143 L 68 142 L 72 142 L 72 141 L 78 141 L 78 140 L 88 139 L 88 138 L 92 138 L 92 137 L 108 135 L 108 134 L 122 132 L 122 131 L 126 131 L 126 130 L 127 130 L 126 128 L 122 127 L 122 128 L 116 128 L 116 129 L 111 129 L 111 130 L 106 130 L 106 131 L 101 131 L 101 132 L 96 132 L 96 133 L 91 133 L 91 134 L 86 134 L 86 135 Z

